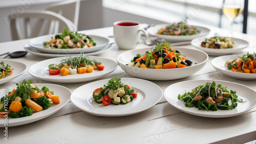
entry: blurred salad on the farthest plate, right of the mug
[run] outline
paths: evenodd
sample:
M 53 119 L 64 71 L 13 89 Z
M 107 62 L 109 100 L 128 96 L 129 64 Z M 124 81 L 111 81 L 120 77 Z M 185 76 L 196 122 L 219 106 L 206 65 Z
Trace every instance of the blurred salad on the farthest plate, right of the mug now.
M 180 22 L 175 22 L 171 25 L 167 25 L 164 28 L 158 30 L 157 34 L 160 35 L 174 35 L 174 36 L 184 36 L 184 35 L 196 35 L 199 34 L 200 30 L 198 30 L 194 26 L 190 26 L 186 23 L 186 19 Z

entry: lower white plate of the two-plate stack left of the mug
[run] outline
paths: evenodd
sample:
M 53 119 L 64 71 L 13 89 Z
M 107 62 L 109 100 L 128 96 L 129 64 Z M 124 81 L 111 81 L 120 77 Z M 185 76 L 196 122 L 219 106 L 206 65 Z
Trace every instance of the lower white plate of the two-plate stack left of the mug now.
M 84 53 L 84 55 L 87 56 L 95 56 L 95 55 L 99 55 L 101 53 L 104 53 L 110 49 L 112 49 L 113 44 L 107 44 L 105 47 L 103 47 L 101 50 L 93 52 L 93 53 Z M 36 49 L 34 49 L 33 47 L 31 47 L 28 43 L 24 45 L 24 49 L 33 55 L 36 56 L 42 56 L 42 57 L 50 57 L 50 58 L 56 58 L 56 57 L 65 57 L 65 56 L 77 56 L 77 54 L 47 54 L 47 53 L 42 53 L 40 51 L 37 51 Z

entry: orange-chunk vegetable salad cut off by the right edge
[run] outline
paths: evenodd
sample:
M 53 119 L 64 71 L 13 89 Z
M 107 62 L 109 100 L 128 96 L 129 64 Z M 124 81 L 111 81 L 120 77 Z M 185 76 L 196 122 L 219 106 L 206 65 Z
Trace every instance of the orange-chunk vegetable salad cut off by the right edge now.
M 225 66 L 228 70 L 238 72 L 238 73 L 249 73 L 256 74 L 256 54 L 243 55 L 242 57 L 236 58 L 231 61 L 227 61 Z

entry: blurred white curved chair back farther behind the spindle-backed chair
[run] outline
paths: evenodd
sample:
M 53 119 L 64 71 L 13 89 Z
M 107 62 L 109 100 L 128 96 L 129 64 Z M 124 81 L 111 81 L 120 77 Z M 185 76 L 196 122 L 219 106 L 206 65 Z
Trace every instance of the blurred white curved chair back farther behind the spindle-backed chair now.
M 68 18 L 74 23 L 76 28 L 78 28 L 80 0 L 69 0 L 69 1 L 57 2 L 57 3 L 51 4 L 46 10 L 58 13 Z

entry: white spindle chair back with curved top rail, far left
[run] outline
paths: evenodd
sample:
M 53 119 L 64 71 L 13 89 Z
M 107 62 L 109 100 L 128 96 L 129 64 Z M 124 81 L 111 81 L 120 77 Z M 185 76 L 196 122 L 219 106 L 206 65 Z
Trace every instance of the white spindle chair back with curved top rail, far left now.
M 13 40 L 56 34 L 63 32 L 63 28 L 67 28 L 69 31 L 77 31 L 74 23 L 69 19 L 55 12 L 45 10 L 25 11 L 18 15 L 9 15 L 9 20 Z M 49 25 L 45 25 L 45 23 Z M 61 31 L 59 31 L 59 24 L 63 26 Z

